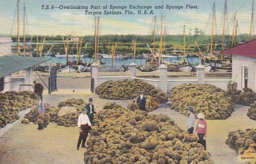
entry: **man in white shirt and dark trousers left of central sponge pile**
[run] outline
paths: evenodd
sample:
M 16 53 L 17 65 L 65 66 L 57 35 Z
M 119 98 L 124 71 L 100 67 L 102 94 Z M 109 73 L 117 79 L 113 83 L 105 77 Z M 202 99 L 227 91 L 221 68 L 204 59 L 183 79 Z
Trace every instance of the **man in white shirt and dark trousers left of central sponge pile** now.
M 92 124 L 88 116 L 86 115 L 87 109 L 83 108 L 82 111 L 83 112 L 78 116 L 78 122 L 77 122 L 80 134 L 79 134 L 76 150 L 79 150 L 81 142 L 82 142 L 82 147 L 86 148 L 85 141 L 86 141 L 86 138 L 88 137 L 89 130 L 92 129 L 91 128 Z

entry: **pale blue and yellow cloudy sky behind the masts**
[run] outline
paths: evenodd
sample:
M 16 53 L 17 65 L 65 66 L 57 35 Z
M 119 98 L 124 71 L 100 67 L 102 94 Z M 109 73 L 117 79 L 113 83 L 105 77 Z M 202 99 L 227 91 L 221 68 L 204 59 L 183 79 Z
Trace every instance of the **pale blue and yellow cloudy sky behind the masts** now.
M 100 16 L 100 34 L 140 34 L 147 35 L 151 26 L 151 21 L 154 15 L 159 18 L 164 15 L 168 34 L 183 34 L 183 26 L 185 25 L 186 33 L 194 34 L 194 29 L 199 28 L 204 30 L 207 20 L 211 15 L 213 3 L 215 2 L 216 20 L 218 29 L 214 33 L 220 33 L 220 22 L 224 9 L 224 0 L 20 0 L 20 10 L 23 10 L 23 3 L 26 6 L 27 16 L 27 34 L 36 35 L 93 35 L 93 15 L 86 15 L 85 10 L 71 9 L 42 9 L 42 5 L 53 5 L 54 7 L 62 6 L 88 6 L 88 11 L 101 11 Z M 0 34 L 10 35 L 17 34 L 17 20 L 13 21 L 17 0 L 0 0 Z M 187 4 L 198 7 L 198 9 L 184 9 Z M 99 6 L 100 9 L 90 9 L 91 5 Z M 102 9 L 103 6 L 107 9 Z M 129 5 L 149 5 L 153 9 L 154 14 L 137 14 L 138 10 L 145 9 L 109 9 L 113 6 Z M 164 9 L 154 9 L 156 5 L 164 5 Z M 183 6 L 183 9 L 165 9 L 169 6 Z M 227 0 L 228 22 L 236 12 L 241 34 L 249 33 L 252 0 Z M 104 15 L 106 11 L 121 11 L 122 15 Z M 133 14 L 125 14 L 125 10 L 130 10 Z M 20 13 L 22 17 L 22 13 Z M 20 18 L 22 23 L 22 18 Z M 229 34 L 232 32 L 232 23 L 229 23 Z M 206 26 L 206 34 L 210 34 L 210 26 Z M 255 30 L 256 32 L 256 30 Z M 22 26 L 20 26 L 20 34 L 22 34 Z

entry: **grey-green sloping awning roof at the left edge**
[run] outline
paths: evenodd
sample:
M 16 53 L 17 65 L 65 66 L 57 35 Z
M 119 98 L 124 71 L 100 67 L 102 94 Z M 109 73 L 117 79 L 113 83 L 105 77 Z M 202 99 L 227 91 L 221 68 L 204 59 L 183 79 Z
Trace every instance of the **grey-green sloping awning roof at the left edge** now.
M 0 56 L 0 78 L 51 60 L 51 57 Z

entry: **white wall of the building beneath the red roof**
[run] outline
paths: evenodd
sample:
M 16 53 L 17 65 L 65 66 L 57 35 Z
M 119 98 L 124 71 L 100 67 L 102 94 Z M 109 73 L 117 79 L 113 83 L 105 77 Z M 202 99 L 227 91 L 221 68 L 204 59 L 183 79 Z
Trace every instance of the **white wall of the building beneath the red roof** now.
M 236 77 L 237 89 L 242 90 L 242 67 L 248 67 L 248 88 L 255 87 L 255 62 L 256 58 L 232 55 L 232 79 Z

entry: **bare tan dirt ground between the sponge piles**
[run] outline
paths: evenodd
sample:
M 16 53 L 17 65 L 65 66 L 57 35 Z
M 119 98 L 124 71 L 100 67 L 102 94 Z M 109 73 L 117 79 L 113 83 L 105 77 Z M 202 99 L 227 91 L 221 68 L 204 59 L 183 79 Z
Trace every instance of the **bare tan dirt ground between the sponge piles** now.
M 78 91 L 69 94 L 58 91 L 51 95 L 44 94 L 44 102 L 57 106 L 60 101 L 70 98 L 81 98 L 85 101 L 93 98 L 96 111 L 107 102 L 117 102 L 127 107 L 131 100 L 116 101 L 100 99 L 92 93 L 81 94 Z M 255 128 L 256 121 L 246 116 L 249 107 L 236 106 L 235 111 L 227 120 L 207 120 L 208 134 L 206 138 L 207 151 L 216 164 L 240 164 L 235 150 L 225 144 L 228 132 L 237 129 Z M 183 130 L 186 130 L 188 118 L 170 108 L 159 108 L 150 114 L 166 114 L 172 118 Z M 241 121 L 242 120 L 242 121 Z M 197 121 L 197 120 L 196 120 Z M 79 135 L 77 127 L 57 126 L 50 124 L 44 130 L 37 130 L 37 125 L 15 124 L 0 138 L 1 164 L 82 164 L 84 149 L 76 150 Z

